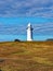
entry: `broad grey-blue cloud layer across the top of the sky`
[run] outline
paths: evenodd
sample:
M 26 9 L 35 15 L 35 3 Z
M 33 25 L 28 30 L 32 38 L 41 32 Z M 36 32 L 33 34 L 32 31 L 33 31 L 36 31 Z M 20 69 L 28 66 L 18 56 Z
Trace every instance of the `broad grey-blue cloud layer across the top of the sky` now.
M 53 0 L 0 0 L 0 16 L 53 17 Z

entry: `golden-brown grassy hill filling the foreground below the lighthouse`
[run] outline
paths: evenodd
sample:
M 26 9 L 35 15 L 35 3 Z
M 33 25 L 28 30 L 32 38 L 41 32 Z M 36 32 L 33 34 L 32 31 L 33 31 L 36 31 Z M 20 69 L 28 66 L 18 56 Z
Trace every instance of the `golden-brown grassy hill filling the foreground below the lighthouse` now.
M 0 71 L 53 71 L 53 42 L 0 43 Z

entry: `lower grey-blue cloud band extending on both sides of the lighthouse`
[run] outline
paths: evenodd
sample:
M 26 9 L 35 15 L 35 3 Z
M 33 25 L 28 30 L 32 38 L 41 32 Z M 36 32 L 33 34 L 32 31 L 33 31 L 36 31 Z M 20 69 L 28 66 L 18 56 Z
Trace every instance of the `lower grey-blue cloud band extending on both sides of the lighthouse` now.
M 35 35 L 53 35 L 53 23 L 32 24 Z M 26 35 L 25 25 L 2 25 L 0 24 L 1 35 Z

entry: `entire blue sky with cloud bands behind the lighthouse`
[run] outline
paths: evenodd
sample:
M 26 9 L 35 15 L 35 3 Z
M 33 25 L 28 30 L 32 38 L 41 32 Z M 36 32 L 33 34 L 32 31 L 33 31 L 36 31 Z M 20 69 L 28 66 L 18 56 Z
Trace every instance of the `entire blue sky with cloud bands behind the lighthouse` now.
M 28 23 L 34 40 L 53 38 L 53 0 L 0 0 L 0 42 L 26 40 Z

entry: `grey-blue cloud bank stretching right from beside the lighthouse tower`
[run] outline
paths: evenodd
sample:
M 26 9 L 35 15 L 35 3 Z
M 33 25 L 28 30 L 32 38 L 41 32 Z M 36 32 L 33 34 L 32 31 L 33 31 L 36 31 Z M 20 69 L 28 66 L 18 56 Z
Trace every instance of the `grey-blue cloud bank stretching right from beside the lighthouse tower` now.
M 44 23 L 44 24 L 34 25 L 34 34 L 53 35 L 53 23 Z

